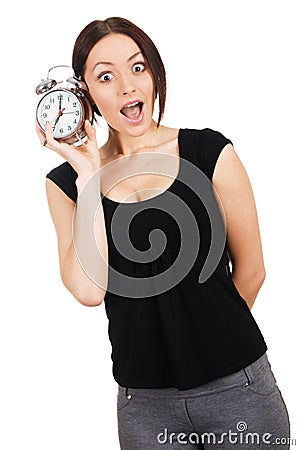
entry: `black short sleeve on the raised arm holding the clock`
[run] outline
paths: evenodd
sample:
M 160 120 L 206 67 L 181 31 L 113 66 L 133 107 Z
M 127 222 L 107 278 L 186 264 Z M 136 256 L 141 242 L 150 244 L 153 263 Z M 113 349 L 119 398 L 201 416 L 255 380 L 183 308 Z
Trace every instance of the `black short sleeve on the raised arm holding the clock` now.
M 68 161 L 55 167 L 46 175 L 46 178 L 53 181 L 75 203 L 78 195 L 75 183 L 77 177 L 77 172 Z

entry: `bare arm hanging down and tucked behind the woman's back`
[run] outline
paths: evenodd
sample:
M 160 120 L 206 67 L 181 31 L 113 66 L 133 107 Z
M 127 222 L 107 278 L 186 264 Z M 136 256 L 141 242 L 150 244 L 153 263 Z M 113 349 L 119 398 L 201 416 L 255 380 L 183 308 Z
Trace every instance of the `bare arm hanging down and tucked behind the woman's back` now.
M 212 183 L 225 213 L 232 279 L 252 308 L 266 272 L 252 187 L 231 144 L 219 155 Z

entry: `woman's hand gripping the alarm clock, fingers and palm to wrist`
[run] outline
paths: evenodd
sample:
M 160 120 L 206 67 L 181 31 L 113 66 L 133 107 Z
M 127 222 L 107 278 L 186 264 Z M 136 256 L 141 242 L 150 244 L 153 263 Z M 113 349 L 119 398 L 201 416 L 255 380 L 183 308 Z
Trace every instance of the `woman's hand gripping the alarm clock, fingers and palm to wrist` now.
M 46 139 L 45 146 L 54 150 L 68 161 L 78 176 L 92 174 L 100 167 L 100 153 L 97 146 L 96 130 L 92 127 L 89 120 L 85 121 L 84 128 L 87 134 L 87 140 L 84 144 L 75 146 L 54 139 L 51 124 L 47 125 L 46 131 L 43 133 L 36 123 L 36 131 L 41 144 Z

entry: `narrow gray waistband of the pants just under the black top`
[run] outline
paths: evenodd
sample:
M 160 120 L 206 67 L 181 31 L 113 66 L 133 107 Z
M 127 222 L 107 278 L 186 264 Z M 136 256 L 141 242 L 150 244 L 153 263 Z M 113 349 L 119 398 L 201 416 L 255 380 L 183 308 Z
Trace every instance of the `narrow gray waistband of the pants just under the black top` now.
M 205 384 L 202 384 L 200 386 L 197 386 L 195 388 L 191 389 L 178 389 L 178 388 L 131 388 L 131 387 L 124 387 L 121 385 L 118 385 L 119 392 L 124 395 L 145 395 L 145 396 L 154 396 L 154 397 L 160 397 L 160 396 L 176 396 L 176 397 L 185 397 L 185 396 L 193 396 L 197 394 L 203 393 L 208 387 L 209 388 L 217 388 L 222 386 L 222 382 L 225 383 L 228 380 L 228 378 L 231 379 L 231 382 L 234 381 L 240 381 L 242 377 L 245 378 L 247 381 L 251 381 L 251 379 L 255 378 L 255 376 L 260 373 L 261 370 L 263 370 L 266 367 L 270 367 L 267 353 L 264 353 L 261 357 L 259 357 L 256 361 L 246 366 L 244 369 L 238 370 L 237 372 L 233 372 L 229 375 L 226 375 L 222 378 L 217 378 L 215 380 L 209 381 Z M 225 381 L 226 380 L 226 381 Z

